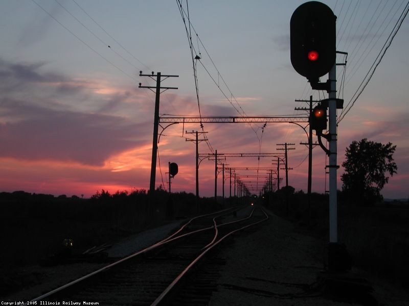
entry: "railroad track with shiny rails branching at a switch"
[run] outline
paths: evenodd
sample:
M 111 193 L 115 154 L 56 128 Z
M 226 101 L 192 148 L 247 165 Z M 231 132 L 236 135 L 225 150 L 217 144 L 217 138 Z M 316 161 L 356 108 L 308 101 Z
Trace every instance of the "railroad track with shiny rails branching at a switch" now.
M 237 211 L 244 217 L 233 217 Z M 192 218 L 174 234 L 32 301 L 88 301 L 100 305 L 207 304 L 222 259 L 207 256 L 234 233 L 268 218 L 239 207 Z M 200 265 L 201 266 L 200 266 Z

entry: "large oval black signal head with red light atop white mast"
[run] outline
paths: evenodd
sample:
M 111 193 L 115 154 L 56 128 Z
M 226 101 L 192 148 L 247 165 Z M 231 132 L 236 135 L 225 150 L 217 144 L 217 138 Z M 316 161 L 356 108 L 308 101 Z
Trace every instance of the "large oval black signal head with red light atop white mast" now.
M 317 1 L 300 5 L 291 16 L 291 64 L 311 83 L 335 64 L 335 21 L 332 10 Z

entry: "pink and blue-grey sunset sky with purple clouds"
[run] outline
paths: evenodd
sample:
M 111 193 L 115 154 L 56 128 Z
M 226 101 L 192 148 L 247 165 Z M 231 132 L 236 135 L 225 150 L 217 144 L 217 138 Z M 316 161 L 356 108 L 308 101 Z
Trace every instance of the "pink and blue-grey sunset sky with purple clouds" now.
M 192 42 L 201 56 L 197 80 L 202 116 L 301 115 L 294 108 L 307 104 L 295 99 L 327 97 L 326 92 L 312 91 L 291 66 L 289 23 L 302 3 L 188 2 L 198 34 L 191 28 Z M 337 50 L 348 52 L 344 82 L 344 67 L 337 66 L 337 96 L 346 106 L 367 80 L 407 2 L 324 3 L 337 16 Z M 187 13 L 186 0 L 181 4 Z M 89 197 L 101 189 L 111 193 L 149 189 L 155 95 L 138 84 L 155 83 L 140 77 L 139 71 L 179 75 L 162 84 L 178 89 L 162 93 L 161 114 L 198 115 L 193 62 L 177 1 L 1 1 L 0 37 L 0 191 Z M 368 138 L 397 146 L 398 173 L 381 192 L 386 198 L 409 195 L 408 37 L 406 18 L 367 87 L 338 125 L 338 165 L 353 140 Z M 337 56 L 338 63 L 344 60 Z M 276 144 L 295 143 L 296 149 L 288 154 L 293 168 L 288 181 L 306 191 L 308 149 L 300 145 L 307 141 L 305 132 L 290 123 L 262 127 L 262 123 L 204 124 L 211 147 L 219 153 L 277 153 L 283 151 Z M 164 131 L 158 144 L 156 187 L 164 182 L 167 188 L 168 162 L 176 162 L 179 173 L 172 191 L 195 192 L 195 145 L 185 141 L 193 136 L 185 130 L 201 129 L 199 124 L 175 124 Z M 210 148 L 201 142 L 199 152 L 209 153 Z M 315 192 L 328 189 L 326 162 L 324 151 L 315 147 Z M 227 158 L 225 164 L 276 167 L 271 158 Z M 340 167 L 339 189 L 342 173 Z M 260 188 L 265 174 L 259 170 Z M 284 177 L 284 170 L 280 174 Z M 200 163 L 199 184 L 201 196 L 213 196 L 214 162 Z M 225 194 L 229 195 L 228 185 Z

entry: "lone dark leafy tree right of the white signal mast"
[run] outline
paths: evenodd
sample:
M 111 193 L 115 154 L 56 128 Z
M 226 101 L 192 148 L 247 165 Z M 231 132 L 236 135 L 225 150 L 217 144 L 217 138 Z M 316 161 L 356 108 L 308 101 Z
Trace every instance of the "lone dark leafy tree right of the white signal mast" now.
M 379 191 L 389 182 L 385 175 L 397 173 L 398 167 L 393 161 L 396 145 L 388 142 L 368 141 L 364 138 L 359 142 L 355 140 L 346 148 L 346 160 L 342 166 L 345 173 L 341 176 L 343 191 L 363 204 L 373 204 L 382 199 Z

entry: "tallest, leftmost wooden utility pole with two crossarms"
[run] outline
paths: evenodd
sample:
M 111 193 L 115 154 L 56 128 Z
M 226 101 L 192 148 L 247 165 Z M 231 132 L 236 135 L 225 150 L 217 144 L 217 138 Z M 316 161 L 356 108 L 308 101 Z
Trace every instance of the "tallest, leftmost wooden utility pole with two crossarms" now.
M 156 74 L 152 71 L 152 74 L 142 74 L 142 71 L 139 71 L 140 77 L 149 77 L 152 80 L 156 81 L 156 86 L 142 86 L 142 83 L 139 83 L 139 88 L 149 88 L 152 92 L 155 92 L 155 113 L 153 116 L 153 140 L 152 140 L 152 163 L 150 166 L 150 184 L 149 192 L 153 193 L 155 191 L 155 179 L 156 179 L 156 156 L 157 156 L 157 131 L 159 128 L 159 101 L 161 93 L 168 89 L 177 89 L 177 87 L 161 87 L 161 79 L 165 78 L 178 78 L 179 75 L 162 75 L 161 72 Z M 154 79 L 156 77 L 156 80 Z M 156 91 L 153 91 L 152 88 L 155 88 Z M 161 91 L 161 89 L 164 89 Z

